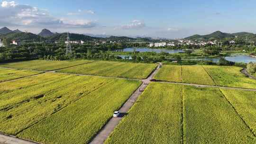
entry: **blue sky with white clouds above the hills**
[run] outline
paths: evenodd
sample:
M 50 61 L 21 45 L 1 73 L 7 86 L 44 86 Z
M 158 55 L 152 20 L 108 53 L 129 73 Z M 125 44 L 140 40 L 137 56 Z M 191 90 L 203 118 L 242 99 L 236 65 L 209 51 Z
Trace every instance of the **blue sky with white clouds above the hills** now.
M 255 6 L 256 0 L 2 0 L 0 27 L 165 38 L 256 33 Z

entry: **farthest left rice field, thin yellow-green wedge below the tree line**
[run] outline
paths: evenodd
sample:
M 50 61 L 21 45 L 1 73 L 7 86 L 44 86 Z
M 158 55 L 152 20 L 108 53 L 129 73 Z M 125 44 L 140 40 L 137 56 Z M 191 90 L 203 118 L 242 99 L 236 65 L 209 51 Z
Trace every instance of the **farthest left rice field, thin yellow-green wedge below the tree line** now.
M 93 61 L 88 61 L 88 60 L 74 60 L 74 61 L 34 60 L 34 61 L 24 61 L 24 62 L 0 64 L 0 67 L 38 70 L 38 71 L 54 71 L 54 70 L 58 70 L 58 69 L 66 68 L 66 67 L 71 67 L 74 65 L 79 65 L 79 64 L 83 64 L 83 63 L 91 63 L 91 62 L 93 62 Z

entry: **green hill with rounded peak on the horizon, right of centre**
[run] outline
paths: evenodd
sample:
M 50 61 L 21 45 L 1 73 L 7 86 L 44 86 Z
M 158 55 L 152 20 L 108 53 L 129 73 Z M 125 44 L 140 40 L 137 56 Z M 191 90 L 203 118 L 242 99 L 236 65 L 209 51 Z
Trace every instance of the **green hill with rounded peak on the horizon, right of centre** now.
M 189 36 L 186 37 L 185 39 L 190 39 L 190 40 L 209 40 L 209 39 L 223 39 L 223 38 L 233 38 L 235 37 L 232 34 L 229 33 L 222 33 L 221 31 L 216 31 L 214 33 L 211 33 L 209 35 L 193 35 L 193 36 Z

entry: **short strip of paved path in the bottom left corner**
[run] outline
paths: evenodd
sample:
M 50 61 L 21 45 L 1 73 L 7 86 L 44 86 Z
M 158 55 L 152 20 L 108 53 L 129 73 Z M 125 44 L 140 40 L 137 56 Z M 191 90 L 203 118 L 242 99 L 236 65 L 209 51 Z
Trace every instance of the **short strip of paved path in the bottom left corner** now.
M 0 133 L 0 144 L 40 144 Z

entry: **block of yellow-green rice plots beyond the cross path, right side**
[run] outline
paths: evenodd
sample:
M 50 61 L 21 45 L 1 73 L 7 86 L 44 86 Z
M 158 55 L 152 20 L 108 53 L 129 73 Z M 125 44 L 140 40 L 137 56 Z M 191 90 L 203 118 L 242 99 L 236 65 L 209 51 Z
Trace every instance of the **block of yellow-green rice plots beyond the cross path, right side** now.
M 182 70 L 181 70 L 182 69 Z M 235 66 L 164 65 L 156 80 L 202 85 L 256 89 L 256 80 L 248 78 Z

